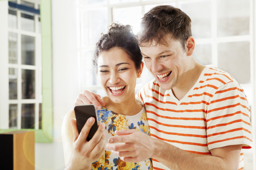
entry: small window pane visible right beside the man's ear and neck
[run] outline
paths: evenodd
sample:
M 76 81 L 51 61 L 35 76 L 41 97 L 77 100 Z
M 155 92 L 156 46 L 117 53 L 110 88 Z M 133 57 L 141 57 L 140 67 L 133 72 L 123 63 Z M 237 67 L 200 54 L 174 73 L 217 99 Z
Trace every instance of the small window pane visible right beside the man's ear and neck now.
M 212 64 L 212 46 L 211 44 L 197 44 L 193 53 L 194 59 L 200 64 Z

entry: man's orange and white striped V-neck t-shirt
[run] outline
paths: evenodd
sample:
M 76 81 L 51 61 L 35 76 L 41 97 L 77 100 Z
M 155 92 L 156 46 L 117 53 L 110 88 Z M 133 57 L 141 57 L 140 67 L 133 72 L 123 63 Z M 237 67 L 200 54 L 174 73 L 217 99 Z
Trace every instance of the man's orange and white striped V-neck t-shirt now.
M 151 137 L 202 155 L 211 155 L 214 148 L 243 144 L 239 163 L 243 169 L 244 149 L 252 146 L 250 108 L 244 90 L 230 74 L 205 67 L 180 101 L 154 79 L 136 99 L 146 107 Z M 169 169 L 152 160 L 153 169 Z

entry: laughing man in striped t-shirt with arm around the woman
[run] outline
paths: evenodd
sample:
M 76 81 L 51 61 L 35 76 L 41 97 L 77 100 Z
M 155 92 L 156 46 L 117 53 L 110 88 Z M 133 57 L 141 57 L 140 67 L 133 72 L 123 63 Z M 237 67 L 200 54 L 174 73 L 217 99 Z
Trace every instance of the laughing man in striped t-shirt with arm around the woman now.
M 156 6 L 138 35 L 145 65 L 155 77 L 136 95 L 147 110 L 151 137 L 116 131 L 107 148 L 126 162 L 153 160 L 153 169 L 243 169 L 251 148 L 250 109 L 228 73 L 197 63 L 191 19 L 172 6 Z M 84 91 L 75 102 L 104 105 Z M 123 143 L 123 144 L 115 144 Z

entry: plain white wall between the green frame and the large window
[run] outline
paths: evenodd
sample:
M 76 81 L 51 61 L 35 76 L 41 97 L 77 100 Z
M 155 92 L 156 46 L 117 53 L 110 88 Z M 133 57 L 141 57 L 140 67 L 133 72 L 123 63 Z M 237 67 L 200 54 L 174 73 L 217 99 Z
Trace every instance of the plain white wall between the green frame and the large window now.
M 52 0 L 53 138 L 36 143 L 36 170 L 64 169 L 61 124 L 74 107 L 78 91 L 76 46 L 76 1 Z

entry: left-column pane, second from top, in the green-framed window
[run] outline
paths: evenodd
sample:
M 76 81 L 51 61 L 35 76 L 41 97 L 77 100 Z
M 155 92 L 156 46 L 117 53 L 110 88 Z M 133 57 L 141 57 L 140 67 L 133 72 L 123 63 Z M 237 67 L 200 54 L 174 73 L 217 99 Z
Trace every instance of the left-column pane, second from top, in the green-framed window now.
M 17 64 L 17 34 L 13 32 L 9 32 L 9 63 Z

